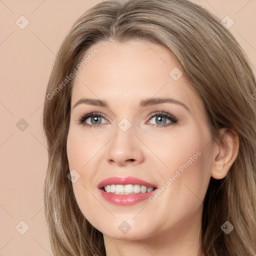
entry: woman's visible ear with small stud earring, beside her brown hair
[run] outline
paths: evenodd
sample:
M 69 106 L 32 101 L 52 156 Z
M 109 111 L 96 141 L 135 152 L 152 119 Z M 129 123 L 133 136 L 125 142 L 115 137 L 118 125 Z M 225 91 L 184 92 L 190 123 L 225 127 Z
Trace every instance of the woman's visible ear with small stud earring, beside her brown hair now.
M 239 149 L 239 138 L 236 132 L 228 128 L 221 128 L 219 131 L 222 139 L 214 144 L 214 159 L 211 168 L 211 177 L 215 179 L 226 176 Z

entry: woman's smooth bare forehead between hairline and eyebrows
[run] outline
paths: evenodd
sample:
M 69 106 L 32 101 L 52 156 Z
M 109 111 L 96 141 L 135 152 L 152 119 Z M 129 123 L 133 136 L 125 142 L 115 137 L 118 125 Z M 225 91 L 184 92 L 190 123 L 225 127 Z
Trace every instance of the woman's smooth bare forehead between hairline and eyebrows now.
M 169 96 L 185 101 L 189 108 L 203 107 L 175 58 L 159 44 L 138 40 L 100 42 L 93 44 L 81 61 L 85 58 L 86 64 L 74 77 L 71 106 L 81 97 L 127 105 L 144 98 Z

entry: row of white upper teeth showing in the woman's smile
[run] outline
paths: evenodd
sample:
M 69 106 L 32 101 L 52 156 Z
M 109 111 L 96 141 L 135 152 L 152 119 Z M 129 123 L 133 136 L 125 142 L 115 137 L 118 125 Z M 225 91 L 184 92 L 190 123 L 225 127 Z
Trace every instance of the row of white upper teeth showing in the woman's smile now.
M 146 187 L 146 186 L 141 186 L 141 185 L 132 185 L 132 184 L 127 184 L 127 185 L 106 185 L 104 186 L 104 189 L 107 193 L 114 193 L 114 194 L 133 194 L 133 193 L 146 193 L 146 192 L 151 192 L 153 190 L 153 187 Z

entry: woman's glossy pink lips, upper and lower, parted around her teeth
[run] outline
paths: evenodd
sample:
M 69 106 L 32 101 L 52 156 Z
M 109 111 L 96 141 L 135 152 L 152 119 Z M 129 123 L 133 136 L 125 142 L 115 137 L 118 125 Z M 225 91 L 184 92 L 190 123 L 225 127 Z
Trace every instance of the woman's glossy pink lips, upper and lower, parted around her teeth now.
M 107 193 L 103 189 L 101 189 L 103 186 L 110 185 L 110 184 L 121 184 L 121 185 L 138 184 L 138 185 L 144 185 L 146 187 L 156 187 L 156 185 L 146 182 L 142 179 L 131 177 L 131 176 L 110 177 L 102 180 L 97 186 L 102 197 L 110 203 L 113 203 L 116 205 L 122 205 L 122 206 L 128 206 L 128 205 L 132 205 L 140 201 L 143 201 L 157 191 L 157 189 L 154 189 L 151 192 L 146 192 L 146 193 L 114 194 L 114 193 Z

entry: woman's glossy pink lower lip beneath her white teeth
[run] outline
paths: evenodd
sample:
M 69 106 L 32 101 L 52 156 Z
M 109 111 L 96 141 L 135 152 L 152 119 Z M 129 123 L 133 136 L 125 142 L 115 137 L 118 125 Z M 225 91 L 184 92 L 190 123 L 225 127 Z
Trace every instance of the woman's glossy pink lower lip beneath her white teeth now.
M 106 201 L 116 205 L 128 206 L 128 205 L 133 205 L 143 200 L 146 200 L 148 197 L 154 194 L 157 189 L 154 189 L 146 193 L 140 192 L 140 193 L 134 193 L 134 194 L 114 194 L 114 193 L 107 193 L 102 189 L 99 189 L 99 190 L 102 197 Z

